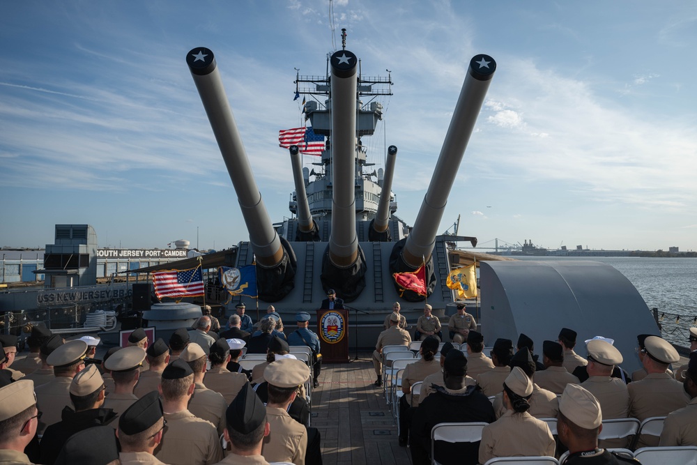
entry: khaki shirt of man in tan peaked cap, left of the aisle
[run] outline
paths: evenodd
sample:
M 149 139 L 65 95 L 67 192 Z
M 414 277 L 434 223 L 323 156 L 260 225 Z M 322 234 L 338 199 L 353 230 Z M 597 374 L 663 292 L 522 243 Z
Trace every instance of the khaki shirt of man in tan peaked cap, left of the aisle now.
M 285 409 L 266 407 L 270 433 L 261 443 L 261 455 L 269 462 L 305 465 L 307 429 L 293 420 Z

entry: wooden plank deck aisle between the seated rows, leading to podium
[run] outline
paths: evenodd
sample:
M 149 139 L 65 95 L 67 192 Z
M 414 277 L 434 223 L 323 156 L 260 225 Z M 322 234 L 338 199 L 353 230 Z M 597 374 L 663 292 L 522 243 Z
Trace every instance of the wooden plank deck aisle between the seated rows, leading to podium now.
M 374 386 L 371 353 L 358 356 L 323 365 L 313 391 L 312 426 L 321 434 L 323 464 L 411 464 L 409 449 L 399 447 L 382 388 Z

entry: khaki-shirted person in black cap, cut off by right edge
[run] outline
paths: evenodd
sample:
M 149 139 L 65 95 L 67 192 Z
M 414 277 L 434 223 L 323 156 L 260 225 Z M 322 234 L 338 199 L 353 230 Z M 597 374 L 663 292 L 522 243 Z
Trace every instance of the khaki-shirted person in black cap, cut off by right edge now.
M 683 386 L 692 400 L 668 415 L 659 445 L 697 445 L 697 352 L 690 353 Z

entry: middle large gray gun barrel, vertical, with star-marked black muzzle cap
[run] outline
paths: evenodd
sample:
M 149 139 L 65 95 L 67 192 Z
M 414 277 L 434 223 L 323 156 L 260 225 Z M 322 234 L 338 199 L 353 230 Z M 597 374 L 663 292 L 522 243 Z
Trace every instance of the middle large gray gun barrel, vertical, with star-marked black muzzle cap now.
M 346 49 L 332 55 L 332 232 L 322 264 L 322 284 L 347 302 L 365 287 L 367 268 L 355 233 L 355 114 L 357 65 Z

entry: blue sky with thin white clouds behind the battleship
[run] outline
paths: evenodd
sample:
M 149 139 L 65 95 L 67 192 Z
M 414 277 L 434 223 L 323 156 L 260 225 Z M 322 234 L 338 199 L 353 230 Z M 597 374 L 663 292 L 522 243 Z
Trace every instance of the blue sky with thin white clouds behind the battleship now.
M 399 147 L 413 224 L 470 58 L 497 63 L 439 231 L 480 247 L 697 250 L 697 4 L 653 1 L 7 2 L 0 15 L 0 246 L 91 224 L 99 247 L 249 240 L 185 63 L 215 53 L 270 218 L 291 215 L 278 131 L 296 70 L 341 47 L 393 96 L 368 146 Z M 317 159 L 305 156 L 312 167 Z M 462 244 L 466 245 L 466 244 Z M 482 251 L 487 251 L 482 248 Z

